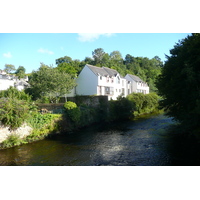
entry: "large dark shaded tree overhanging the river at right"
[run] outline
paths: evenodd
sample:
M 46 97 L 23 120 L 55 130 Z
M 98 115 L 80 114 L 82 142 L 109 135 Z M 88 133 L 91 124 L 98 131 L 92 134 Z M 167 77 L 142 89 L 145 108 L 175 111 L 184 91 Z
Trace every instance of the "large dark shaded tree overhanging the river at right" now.
M 185 128 L 198 128 L 200 119 L 200 34 L 192 34 L 170 50 L 157 80 L 161 102 L 169 116 Z M 186 127 L 187 126 L 187 127 Z

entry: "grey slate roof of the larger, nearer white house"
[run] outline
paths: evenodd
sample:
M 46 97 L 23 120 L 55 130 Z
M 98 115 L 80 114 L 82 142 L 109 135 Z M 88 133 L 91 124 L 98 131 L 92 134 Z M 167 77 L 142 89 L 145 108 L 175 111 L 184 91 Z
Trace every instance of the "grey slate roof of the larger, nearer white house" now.
M 116 76 L 119 74 L 116 70 L 110 69 L 108 67 L 96 67 L 93 65 L 88 65 L 87 66 L 98 76 Z

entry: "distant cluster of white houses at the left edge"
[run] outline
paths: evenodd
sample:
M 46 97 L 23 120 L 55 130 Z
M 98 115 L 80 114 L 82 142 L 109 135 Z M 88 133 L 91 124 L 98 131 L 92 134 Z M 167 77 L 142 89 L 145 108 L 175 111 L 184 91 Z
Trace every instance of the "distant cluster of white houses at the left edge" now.
M 29 86 L 28 77 L 24 79 L 18 79 L 14 75 L 9 75 L 5 71 L 0 70 L 0 91 L 7 90 L 9 87 L 15 87 L 18 90 L 23 90 Z

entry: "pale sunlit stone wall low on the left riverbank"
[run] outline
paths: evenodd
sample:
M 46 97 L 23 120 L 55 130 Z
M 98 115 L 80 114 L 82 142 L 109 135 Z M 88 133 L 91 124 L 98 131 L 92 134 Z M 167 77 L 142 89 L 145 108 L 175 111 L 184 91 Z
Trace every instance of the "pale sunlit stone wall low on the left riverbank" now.
M 15 131 L 10 131 L 9 127 L 5 127 L 0 124 L 0 143 L 6 140 L 10 135 L 19 135 L 20 138 L 24 138 L 32 133 L 32 128 L 23 124 Z

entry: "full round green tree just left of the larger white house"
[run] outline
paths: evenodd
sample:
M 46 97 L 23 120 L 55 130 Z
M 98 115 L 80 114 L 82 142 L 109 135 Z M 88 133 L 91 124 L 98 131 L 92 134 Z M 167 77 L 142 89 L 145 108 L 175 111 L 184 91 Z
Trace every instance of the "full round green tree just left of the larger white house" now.
M 34 99 L 46 96 L 51 102 L 69 93 L 76 85 L 71 75 L 43 63 L 38 71 L 32 72 L 29 83 L 31 88 L 27 92 Z

